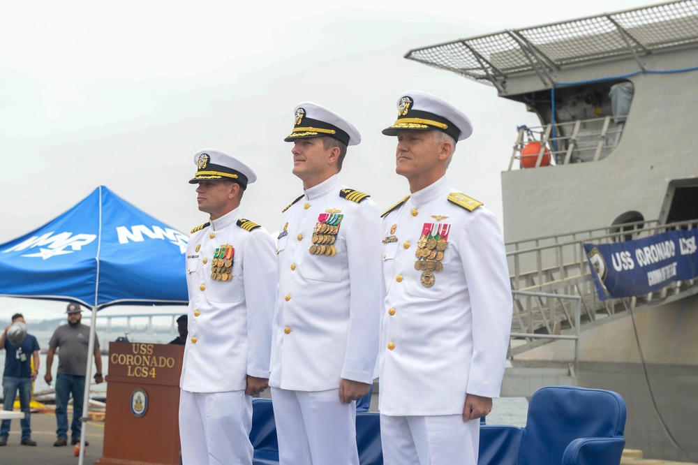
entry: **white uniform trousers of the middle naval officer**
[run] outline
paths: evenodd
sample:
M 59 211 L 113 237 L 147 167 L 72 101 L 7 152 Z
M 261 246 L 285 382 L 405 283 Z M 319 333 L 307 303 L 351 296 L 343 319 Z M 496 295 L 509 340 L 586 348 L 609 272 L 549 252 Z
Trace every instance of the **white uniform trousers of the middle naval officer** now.
M 359 465 L 356 402 L 339 389 L 319 392 L 272 388 L 279 465 Z

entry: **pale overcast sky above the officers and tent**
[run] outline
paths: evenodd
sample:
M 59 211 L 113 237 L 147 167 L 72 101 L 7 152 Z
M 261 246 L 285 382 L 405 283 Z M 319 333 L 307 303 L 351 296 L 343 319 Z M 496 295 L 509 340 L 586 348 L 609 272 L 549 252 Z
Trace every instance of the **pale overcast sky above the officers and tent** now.
M 475 131 L 450 183 L 501 218 L 500 172 L 520 124 L 537 121 L 493 87 L 406 60 L 413 48 L 647 6 L 637 0 L 466 1 L 0 0 L 0 244 L 104 185 L 188 232 L 198 211 L 193 154 L 223 149 L 259 177 L 242 209 L 269 231 L 302 193 L 292 168 L 293 109 L 314 101 L 352 121 L 341 180 L 382 208 L 408 193 L 395 139 L 380 133 L 401 92 L 457 105 Z M 558 6 L 556 8 L 555 6 Z M 47 318 L 64 304 L 0 299 Z M 118 309 L 114 309 L 118 311 Z

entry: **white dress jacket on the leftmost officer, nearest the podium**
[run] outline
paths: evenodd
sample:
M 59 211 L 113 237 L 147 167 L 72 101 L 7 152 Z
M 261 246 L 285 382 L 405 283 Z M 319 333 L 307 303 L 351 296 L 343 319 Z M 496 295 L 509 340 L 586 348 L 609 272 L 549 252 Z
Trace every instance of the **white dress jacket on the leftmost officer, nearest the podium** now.
M 241 219 L 239 208 L 207 225 L 193 232 L 186 251 L 188 339 L 179 387 L 244 390 L 247 375 L 269 378 L 274 240 L 261 226 Z M 211 279 L 211 259 L 227 244 L 235 248 L 232 279 Z

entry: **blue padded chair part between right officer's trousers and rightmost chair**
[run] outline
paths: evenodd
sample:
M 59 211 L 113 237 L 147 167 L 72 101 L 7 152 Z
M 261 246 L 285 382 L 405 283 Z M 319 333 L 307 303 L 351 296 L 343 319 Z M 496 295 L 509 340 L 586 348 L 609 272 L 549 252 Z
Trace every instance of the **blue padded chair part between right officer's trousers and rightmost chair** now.
M 517 464 L 523 428 L 480 425 L 480 454 L 477 465 Z

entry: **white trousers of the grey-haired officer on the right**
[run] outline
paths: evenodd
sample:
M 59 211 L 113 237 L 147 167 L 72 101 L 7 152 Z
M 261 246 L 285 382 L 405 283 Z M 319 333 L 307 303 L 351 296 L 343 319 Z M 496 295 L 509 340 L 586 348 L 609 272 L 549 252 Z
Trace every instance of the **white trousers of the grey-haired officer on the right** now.
M 380 415 L 383 465 L 477 465 L 480 419 Z

